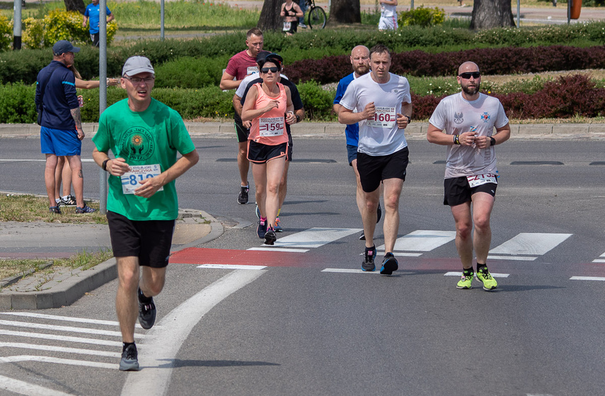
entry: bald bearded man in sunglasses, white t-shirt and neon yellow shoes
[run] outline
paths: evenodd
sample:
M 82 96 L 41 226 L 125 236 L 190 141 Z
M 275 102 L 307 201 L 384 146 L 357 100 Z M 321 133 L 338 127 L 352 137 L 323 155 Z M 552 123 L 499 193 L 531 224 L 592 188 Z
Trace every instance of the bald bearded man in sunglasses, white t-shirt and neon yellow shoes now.
M 498 182 L 493 146 L 508 140 L 510 126 L 500 100 L 479 92 L 481 75 L 476 64 L 465 62 L 459 67 L 458 83 L 462 92 L 445 97 L 429 119 L 427 139 L 447 146 L 444 205 L 449 205 L 454 215 L 456 248 L 463 267 L 456 287 L 471 289 L 474 248 L 477 278 L 483 289 L 492 290 L 498 284 L 486 263 Z

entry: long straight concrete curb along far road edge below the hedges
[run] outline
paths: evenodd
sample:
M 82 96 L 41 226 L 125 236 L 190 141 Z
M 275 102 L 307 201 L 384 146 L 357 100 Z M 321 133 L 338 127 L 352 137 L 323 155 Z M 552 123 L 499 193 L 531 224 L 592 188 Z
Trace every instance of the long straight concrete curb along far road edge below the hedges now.
M 425 139 L 427 122 L 412 122 L 405 128 L 405 136 L 412 140 Z M 235 136 L 232 122 L 185 122 L 191 136 L 217 136 L 233 138 Z M 511 124 L 511 138 L 605 138 L 605 124 Z M 83 124 L 86 138 L 92 138 L 98 130 L 98 124 Z M 294 124 L 292 136 L 344 138 L 345 126 L 338 122 L 315 123 L 302 122 Z M 0 124 L 0 138 L 38 138 L 40 126 L 36 124 Z

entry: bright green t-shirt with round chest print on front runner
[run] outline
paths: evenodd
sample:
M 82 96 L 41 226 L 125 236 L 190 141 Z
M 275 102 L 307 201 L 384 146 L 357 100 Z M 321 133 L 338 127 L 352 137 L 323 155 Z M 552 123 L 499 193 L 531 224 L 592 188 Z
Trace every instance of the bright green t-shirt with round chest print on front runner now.
M 178 112 L 155 99 L 144 112 L 133 112 L 128 100 L 120 100 L 101 114 L 93 136 L 97 150 L 124 158 L 133 165 L 159 164 L 161 172 L 173 166 L 176 153 L 188 154 L 195 145 Z M 175 181 L 163 186 L 151 198 L 122 193 L 122 181 L 109 176 L 107 209 L 130 220 L 175 220 L 178 199 Z

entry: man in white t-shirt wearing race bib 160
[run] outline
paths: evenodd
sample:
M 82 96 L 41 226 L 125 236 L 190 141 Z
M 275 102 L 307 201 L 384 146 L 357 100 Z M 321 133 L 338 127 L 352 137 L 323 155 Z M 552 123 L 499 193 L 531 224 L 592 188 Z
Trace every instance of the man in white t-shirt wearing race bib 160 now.
M 370 49 L 371 72 L 353 80 L 340 100 L 338 121 L 359 123 L 357 170 L 364 191 L 362 220 L 366 248 L 362 270 L 374 271 L 374 229 L 382 181 L 384 185 L 384 260 L 381 275 L 398 269 L 393 248 L 399 230 L 399 197 L 408 167 L 405 127 L 412 114 L 410 84 L 389 73 L 391 52 L 383 44 Z

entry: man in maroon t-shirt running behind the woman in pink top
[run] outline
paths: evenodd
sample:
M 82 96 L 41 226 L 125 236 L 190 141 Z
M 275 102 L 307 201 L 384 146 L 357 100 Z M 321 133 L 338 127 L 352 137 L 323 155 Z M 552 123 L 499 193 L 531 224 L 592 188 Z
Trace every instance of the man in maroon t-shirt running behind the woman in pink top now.
M 219 85 L 221 90 L 237 89 L 244 77 L 258 71 L 256 56 L 258 55 L 258 52 L 263 49 L 263 31 L 259 28 L 248 30 L 248 33 L 246 33 L 246 46 L 248 49 L 238 52 L 229 59 L 227 68 L 221 77 L 221 83 Z M 237 112 L 234 112 L 234 125 L 239 145 L 237 164 L 241 179 L 237 202 L 241 205 L 245 205 L 248 203 L 248 191 L 250 189 L 250 184 L 248 184 L 248 170 L 250 169 L 250 163 L 248 162 L 248 133 L 250 133 L 250 131 L 248 128 L 250 125 L 243 126 Z

